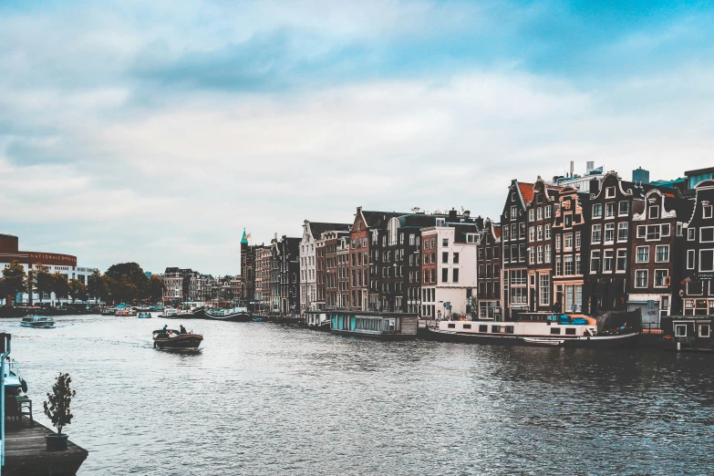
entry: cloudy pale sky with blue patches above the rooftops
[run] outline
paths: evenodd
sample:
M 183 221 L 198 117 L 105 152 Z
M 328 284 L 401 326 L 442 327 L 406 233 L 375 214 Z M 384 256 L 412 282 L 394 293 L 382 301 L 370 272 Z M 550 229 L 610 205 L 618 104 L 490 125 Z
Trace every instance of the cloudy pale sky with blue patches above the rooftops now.
M 0 0 L 0 233 L 238 274 L 366 210 L 498 217 L 587 160 L 714 165 L 714 5 Z

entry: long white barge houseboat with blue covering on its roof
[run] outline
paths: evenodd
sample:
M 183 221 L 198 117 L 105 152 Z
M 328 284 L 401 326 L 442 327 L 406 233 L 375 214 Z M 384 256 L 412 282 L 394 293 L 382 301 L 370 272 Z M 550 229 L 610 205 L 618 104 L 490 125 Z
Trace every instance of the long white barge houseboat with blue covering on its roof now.
M 514 321 L 440 321 L 425 337 L 441 342 L 538 347 L 626 347 L 636 345 L 638 323 L 598 332 L 597 321 L 583 315 L 526 313 Z

